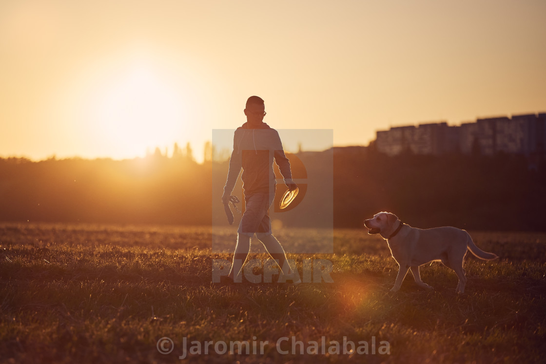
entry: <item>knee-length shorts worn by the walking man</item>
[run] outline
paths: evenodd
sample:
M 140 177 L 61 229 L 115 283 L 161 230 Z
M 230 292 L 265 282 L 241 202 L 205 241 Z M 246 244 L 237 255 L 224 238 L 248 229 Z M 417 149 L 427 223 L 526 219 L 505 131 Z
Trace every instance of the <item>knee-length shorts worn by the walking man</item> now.
M 271 234 L 269 207 L 274 199 L 275 193 L 245 195 L 245 212 L 242 214 L 237 232 L 250 237 L 256 232 Z

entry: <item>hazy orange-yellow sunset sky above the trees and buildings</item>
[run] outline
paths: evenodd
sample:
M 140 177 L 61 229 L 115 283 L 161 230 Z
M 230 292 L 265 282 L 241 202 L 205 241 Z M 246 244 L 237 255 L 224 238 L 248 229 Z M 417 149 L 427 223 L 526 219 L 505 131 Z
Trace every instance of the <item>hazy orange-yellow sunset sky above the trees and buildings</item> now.
M 254 94 L 271 127 L 333 129 L 339 146 L 546 112 L 545 16 L 543 0 L 1 0 L 0 156 L 189 141 L 199 159 Z

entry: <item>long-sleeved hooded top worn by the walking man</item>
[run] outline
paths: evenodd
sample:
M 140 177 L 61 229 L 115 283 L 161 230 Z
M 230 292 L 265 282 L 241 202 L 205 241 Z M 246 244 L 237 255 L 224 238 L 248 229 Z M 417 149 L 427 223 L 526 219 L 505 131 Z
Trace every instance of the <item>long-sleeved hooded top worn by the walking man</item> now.
M 275 172 L 273 159 L 284 177 L 284 183 L 292 182 L 290 162 L 284 155 L 281 138 L 277 130 L 262 122 L 256 129 L 248 122 L 235 130 L 233 152 L 229 160 L 228 178 L 225 181 L 224 194 L 230 195 L 242 168 L 241 180 L 245 196 L 254 193 L 275 191 Z

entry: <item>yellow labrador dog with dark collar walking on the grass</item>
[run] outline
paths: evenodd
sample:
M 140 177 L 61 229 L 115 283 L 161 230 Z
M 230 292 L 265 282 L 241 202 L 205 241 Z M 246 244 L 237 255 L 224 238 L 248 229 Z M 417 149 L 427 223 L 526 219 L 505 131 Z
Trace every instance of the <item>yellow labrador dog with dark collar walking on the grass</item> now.
M 365 220 L 368 234 L 380 234 L 387 243 L 394 260 L 400 266 L 396 282 L 391 289 L 396 292 L 400 289 L 402 281 L 406 277 L 408 268 L 415 278 L 415 282 L 423 288 L 432 289 L 424 283 L 419 276 L 419 266 L 432 260 L 441 260 L 442 263 L 452 268 L 459 277 L 456 291 L 464 293 L 466 277 L 462 268 L 466 250 L 479 259 L 492 260 L 498 258 L 493 253 L 487 253 L 479 249 L 465 230 L 443 227 L 434 229 L 417 229 L 402 223 L 396 215 L 389 212 L 379 212 L 373 218 Z

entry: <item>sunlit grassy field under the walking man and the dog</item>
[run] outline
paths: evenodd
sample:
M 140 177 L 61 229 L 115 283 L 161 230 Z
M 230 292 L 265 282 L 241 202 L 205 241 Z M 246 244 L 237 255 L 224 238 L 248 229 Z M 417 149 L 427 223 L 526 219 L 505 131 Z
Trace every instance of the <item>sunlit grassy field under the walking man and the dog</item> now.
M 276 235 L 289 246 L 309 234 Z M 300 272 L 304 259 L 331 260 L 334 283 L 226 285 L 211 282 L 212 259 L 230 255 L 211 251 L 210 228 L 2 224 L 0 362 L 181 362 L 184 338 L 203 345 L 191 362 L 543 362 L 546 235 L 471 235 L 500 259 L 467 256 L 465 294 L 436 262 L 421 269 L 434 291 L 409 275 L 391 294 L 396 263 L 363 230 L 336 230 L 334 254 L 289 254 Z M 251 258 L 263 252 L 253 244 Z M 235 341 L 251 353 L 218 354 Z

